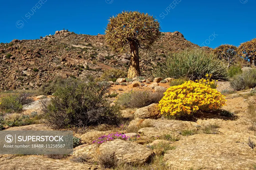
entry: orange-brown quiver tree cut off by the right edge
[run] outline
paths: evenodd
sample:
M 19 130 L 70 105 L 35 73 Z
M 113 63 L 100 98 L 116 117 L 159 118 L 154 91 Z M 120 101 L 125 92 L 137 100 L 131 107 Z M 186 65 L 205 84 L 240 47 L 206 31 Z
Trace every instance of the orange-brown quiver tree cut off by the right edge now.
M 240 46 L 237 48 L 237 55 L 242 57 L 245 61 L 249 61 L 251 66 L 255 66 L 256 38 L 240 44 Z

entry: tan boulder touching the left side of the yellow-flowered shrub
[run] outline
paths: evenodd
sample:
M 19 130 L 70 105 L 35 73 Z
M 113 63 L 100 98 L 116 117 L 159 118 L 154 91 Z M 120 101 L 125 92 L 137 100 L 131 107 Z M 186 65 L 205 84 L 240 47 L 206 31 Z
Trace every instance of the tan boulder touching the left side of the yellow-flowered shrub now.
M 134 118 L 141 118 L 141 119 L 147 119 L 147 118 L 151 118 L 151 119 L 155 119 L 159 116 L 159 112 L 157 112 L 157 105 L 156 103 L 153 103 L 149 106 L 137 109 L 134 112 Z

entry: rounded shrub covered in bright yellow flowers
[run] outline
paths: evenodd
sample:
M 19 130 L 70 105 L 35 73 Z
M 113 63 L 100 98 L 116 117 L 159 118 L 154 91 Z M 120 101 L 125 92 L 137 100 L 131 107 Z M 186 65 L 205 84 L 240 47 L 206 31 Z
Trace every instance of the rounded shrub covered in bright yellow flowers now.
M 168 88 L 159 101 L 161 114 L 175 116 L 221 108 L 226 100 L 220 92 L 211 88 L 213 83 L 214 81 L 201 79 Z

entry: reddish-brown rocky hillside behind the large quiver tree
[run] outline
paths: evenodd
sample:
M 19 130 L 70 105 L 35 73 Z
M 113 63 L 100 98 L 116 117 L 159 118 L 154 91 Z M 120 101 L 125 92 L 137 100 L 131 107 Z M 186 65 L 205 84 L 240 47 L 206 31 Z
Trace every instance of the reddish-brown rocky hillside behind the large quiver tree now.
M 150 77 L 166 55 L 186 48 L 200 48 L 178 31 L 163 33 L 150 51 L 140 51 L 140 68 Z M 0 45 L 0 91 L 37 89 L 56 75 L 62 77 L 99 77 L 110 68 L 128 69 L 130 55 L 111 52 L 104 35 L 78 35 L 56 31 L 36 40 L 13 40 Z

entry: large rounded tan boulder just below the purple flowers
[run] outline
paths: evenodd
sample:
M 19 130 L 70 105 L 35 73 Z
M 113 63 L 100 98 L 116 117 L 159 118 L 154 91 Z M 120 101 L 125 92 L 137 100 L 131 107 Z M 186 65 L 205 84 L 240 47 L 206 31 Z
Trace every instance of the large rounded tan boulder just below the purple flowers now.
M 131 141 L 116 139 L 114 141 L 102 143 L 99 146 L 99 152 L 103 153 L 110 149 L 116 154 L 116 157 L 123 163 L 143 165 L 149 163 L 154 156 L 154 152 L 143 145 Z

